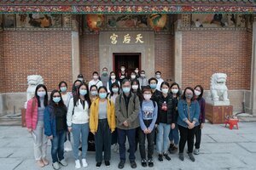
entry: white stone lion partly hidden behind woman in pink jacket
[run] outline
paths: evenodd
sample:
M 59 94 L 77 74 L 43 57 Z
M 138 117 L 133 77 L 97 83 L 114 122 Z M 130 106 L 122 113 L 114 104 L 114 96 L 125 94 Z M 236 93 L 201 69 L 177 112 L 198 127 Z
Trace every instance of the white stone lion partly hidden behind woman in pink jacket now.
M 38 84 L 44 84 L 44 79 L 40 75 L 30 75 L 26 77 L 28 88 L 26 89 L 26 101 L 35 96 Z M 26 108 L 26 103 L 25 103 Z

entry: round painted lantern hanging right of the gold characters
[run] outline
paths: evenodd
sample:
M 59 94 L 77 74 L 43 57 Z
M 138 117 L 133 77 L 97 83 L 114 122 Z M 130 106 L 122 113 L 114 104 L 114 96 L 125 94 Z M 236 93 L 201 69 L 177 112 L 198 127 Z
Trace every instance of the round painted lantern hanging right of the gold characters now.
M 160 31 L 166 26 L 167 14 L 150 14 L 149 16 L 149 26 L 151 26 L 154 31 Z

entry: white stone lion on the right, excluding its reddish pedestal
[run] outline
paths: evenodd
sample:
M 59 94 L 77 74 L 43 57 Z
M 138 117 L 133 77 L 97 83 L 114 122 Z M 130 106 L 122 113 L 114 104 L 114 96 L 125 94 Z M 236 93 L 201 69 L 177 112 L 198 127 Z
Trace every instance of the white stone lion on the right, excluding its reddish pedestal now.
M 214 73 L 211 79 L 210 95 L 213 102 L 228 102 L 228 88 L 226 86 L 227 75 L 225 73 Z

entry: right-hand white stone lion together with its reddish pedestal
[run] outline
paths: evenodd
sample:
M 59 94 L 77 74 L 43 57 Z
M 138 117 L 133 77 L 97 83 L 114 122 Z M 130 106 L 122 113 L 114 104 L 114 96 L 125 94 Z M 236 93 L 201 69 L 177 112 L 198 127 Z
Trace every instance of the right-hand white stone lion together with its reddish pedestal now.
M 233 115 L 233 106 L 228 99 L 227 75 L 214 73 L 211 79 L 210 93 L 207 97 L 206 118 L 209 122 L 224 123 L 226 116 Z

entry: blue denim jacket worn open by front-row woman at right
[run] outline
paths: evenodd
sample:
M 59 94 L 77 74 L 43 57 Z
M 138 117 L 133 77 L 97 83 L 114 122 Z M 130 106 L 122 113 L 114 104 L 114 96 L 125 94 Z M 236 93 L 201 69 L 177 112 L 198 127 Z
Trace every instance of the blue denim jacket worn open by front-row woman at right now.
M 186 121 L 188 120 L 188 105 L 184 99 L 180 99 L 177 104 L 177 124 L 183 127 L 188 127 Z M 197 100 L 191 101 L 189 106 L 190 121 L 195 121 L 195 127 L 199 125 L 200 107 Z

